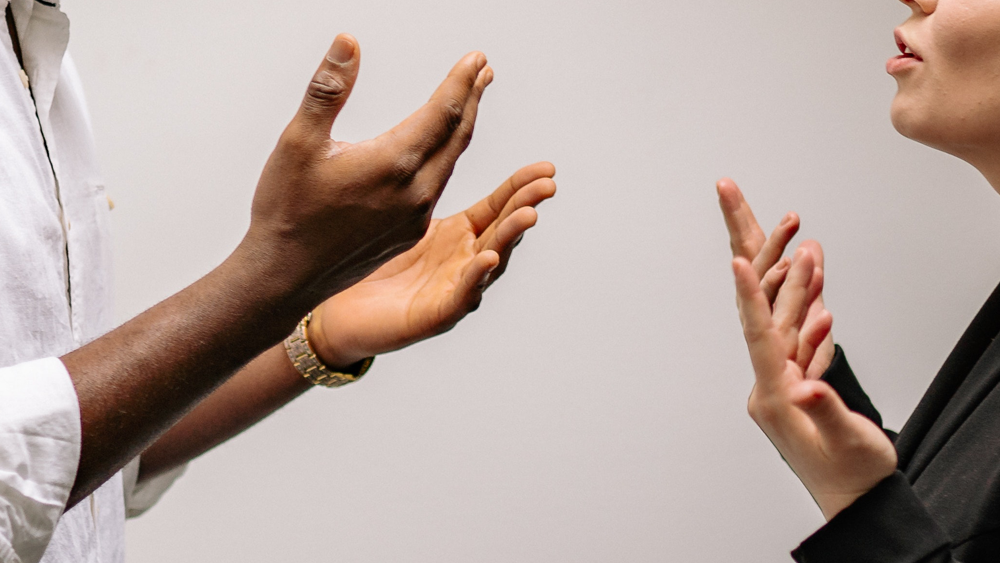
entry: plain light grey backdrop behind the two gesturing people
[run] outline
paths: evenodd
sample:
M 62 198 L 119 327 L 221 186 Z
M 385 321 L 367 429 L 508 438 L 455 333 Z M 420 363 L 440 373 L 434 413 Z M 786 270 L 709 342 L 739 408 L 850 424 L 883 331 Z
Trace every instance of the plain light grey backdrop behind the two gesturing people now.
M 66 0 L 110 194 L 122 320 L 239 241 L 339 31 L 335 128 L 401 120 L 451 64 L 496 81 L 439 207 L 535 160 L 560 193 L 482 309 L 194 463 L 133 562 L 788 560 L 822 519 L 745 412 L 714 181 L 825 244 L 835 334 L 900 427 L 1000 279 L 1000 199 L 899 137 L 907 9 L 830 3 Z

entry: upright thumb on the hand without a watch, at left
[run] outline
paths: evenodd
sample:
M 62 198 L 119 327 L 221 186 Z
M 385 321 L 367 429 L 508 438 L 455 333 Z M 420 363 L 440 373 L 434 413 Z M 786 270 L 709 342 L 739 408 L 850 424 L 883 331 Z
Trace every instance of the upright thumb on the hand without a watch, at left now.
M 337 114 L 347 103 L 358 78 L 361 49 L 352 35 L 341 33 L 327 51 L 323 63 L 309 82 L 295 121 L 307 135 L 330 138 Z

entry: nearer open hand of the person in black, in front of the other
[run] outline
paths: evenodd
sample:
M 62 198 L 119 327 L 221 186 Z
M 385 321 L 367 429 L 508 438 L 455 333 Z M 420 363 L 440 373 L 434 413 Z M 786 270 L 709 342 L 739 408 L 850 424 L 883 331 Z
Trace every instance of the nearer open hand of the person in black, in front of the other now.
M 733 273 L 756 376 L 750 416 L 831 519 L 895 471 L 896 450 L 882 429 L 848 409 L 832 387 L 806 377 L 833 322 L 825 309 L 812 312 L 823 288 L 812 245 L 819 246 L 796 251 L 773 306 L 746 257 L 733 259 Z M 810 314 L 814 326 L 807 335 Z

